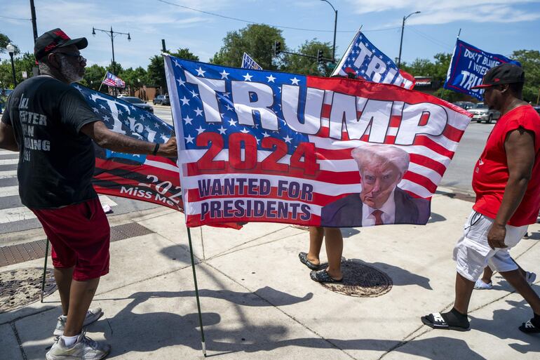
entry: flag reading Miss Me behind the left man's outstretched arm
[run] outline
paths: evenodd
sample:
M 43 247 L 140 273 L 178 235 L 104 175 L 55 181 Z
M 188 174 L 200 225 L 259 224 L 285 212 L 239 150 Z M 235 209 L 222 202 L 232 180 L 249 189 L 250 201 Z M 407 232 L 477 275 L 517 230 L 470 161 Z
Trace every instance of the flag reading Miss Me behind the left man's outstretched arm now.
M 173 127 L 154 114 L 129 102 L 93 91 L 79 84 L 90 109 L 112 131 L 148 142 L 167 142 Z M 182 211 L 182 191 L 175 159 L 124 154 L 95 145 L 92 185 L 100 194 L 146 201 Z

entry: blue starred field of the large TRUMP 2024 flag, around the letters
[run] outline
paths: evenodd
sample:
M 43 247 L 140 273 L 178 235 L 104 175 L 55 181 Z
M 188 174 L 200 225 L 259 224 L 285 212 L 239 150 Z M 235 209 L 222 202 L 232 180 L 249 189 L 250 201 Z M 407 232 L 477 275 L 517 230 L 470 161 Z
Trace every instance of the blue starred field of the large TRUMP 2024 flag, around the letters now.
M 258 149 L 264 149 L 266 151 L 268 151 L 268 148 L 259 147 L 262 145 L 262 139 L 271 137 L 282 140 L 288 145 L 289 154 L 294 152 L 299 142 L 308 141 L 307 135 L 297 133 L 287 126 L 287 123 L 283 120 L 283 112 L 281 111 L 281 86 L 299 86 L 300 98 L 303 99 L 302 95 L 306 93 L 306 76 L 254 69 L 236 69 L 177 58 L 171 58 L 171 60 L 173 62 L 173 72 L 177 84 L 177 94 L 180 100 L 178 105 L 181 107 L 183 116 L 180 124 L 184 133 L 184 145 L 186 149 L 208 148 L 207 145 L 204 147 L 196 146 L 196 138 L 198 135 L 210 132 L 224 137 L 224 147 L 226 149 L 229 146 L 229 135 L 233 133 L 252 135 L 257 141 Z M 205 81 L 212 81 L 212 79 L 224 80 L 224 91 L 216 91 L 218 109 L 217 112 L 215 112 L 215 109 L 211 110 L 215 112 L 212 113 L 212 121 L 207 122 L 205 112 L 210 111 L 210 107 L 208 104 L 206 107 L 203 105 L 198 85 L 187 82 L 184 71 L 189 72 L 189 74 L 196 78 L 206 79 Z M 238 114 L 236 114 L 234 106 L 234 93 L 232 93 L 231 89 L 232 81 L 244 81 L 248 84 L 264 84 L 264 86 L 271 88 L 271 91 L 274 93 L 274 103 L 269 109 L 278 116 L 278 131 L 274 131 L 274 128 L 264 128 L 258 111 L 252 112 L 253 124 L 242 124 L 238 120 Z M 250 93 L 249 98 L 251 102 L 257 102 L 259 95 L 256 91 L 253 91 Z M 299 108 L 303 109 L 304 105 L 304 100 L 301 100 Z M 216 117 L 221 119 L 221 121 L 217 121 Z M 303 119 L 300 120 L 303 121 Z

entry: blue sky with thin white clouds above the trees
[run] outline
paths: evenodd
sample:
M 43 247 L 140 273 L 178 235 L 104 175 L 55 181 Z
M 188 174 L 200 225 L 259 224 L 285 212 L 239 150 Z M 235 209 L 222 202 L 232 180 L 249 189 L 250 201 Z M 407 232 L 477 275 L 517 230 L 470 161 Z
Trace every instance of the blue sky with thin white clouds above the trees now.
M 112 59 L 111 39 L 103 32 L 93 36 L 93 27 L 130 33 L 131 41 L 126 35 L 114 39 L 116 62 L 125 68 L 146 68 L 149 58 L 161 52 L 161 39 L 170 50 L 189 48 L 208 62 L 227 32 L 249 22 L 278 27 L 292 49 L 311 39 L 332 43 L 334 32 L 335 14 L 325 0 L 34 1 L 38 34 L 60 27 L 72 38 L 86 37 L 89 44 L 82 54 L 88 65 L 106 66 Z M 436 53 L 452 53 L 459 29 L 461 40 L 490 53 L 509 56 L 515 50 L 540 50 L 540 1 L 328 1 L 338 11 L 337 58 L 360 26 L 372 44 L 397 58 L 403 17 L 415 11 L 421 13 L 405 22 L 402 62 L 433 60 Z M 32 52 L 29 1 L 0 0 L 0 9 L 0 33 L 22 52 Z M 6 58 L 6 53 L 0 54 L 0 60 Z

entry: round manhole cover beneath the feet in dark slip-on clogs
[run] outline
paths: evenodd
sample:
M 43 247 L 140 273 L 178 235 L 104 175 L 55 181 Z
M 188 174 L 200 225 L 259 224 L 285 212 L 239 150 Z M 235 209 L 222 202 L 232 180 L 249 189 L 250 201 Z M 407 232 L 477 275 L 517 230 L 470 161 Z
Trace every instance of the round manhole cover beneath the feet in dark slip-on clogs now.
M 343 282 L 322 284 L 335 293 L 375 298 L 388 293 L 392 288 L 392 279 L 374 267 L 349 260 L 342 261 Z

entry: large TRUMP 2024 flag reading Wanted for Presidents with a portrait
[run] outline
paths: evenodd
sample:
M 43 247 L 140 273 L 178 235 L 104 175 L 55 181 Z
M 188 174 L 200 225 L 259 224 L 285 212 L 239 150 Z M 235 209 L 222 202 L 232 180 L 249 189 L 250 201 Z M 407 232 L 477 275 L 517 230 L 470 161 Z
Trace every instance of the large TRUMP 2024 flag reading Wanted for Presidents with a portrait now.
M 425 224 L 470 121 L 389 84 L 165 60 L 189 227 Z

